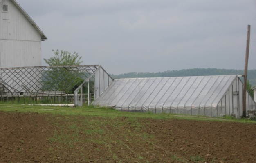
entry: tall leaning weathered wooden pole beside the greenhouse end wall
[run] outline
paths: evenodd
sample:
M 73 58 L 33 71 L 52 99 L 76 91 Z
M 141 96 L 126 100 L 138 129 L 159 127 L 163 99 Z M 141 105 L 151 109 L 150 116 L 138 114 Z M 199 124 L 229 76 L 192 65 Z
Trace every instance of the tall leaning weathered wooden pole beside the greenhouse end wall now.
M 247 85 L 247 69 L 248 69 L 248 59 L 249 59 L 249 46 L 250 46 L 250 33 L 251 25 L 247 27 L 247 43 L 246 43 L 246 53 L 245 53 L 245 74 L 244 74 L 244 89 L 243 89 L 243 115 L 246 117 L 246 85 Z

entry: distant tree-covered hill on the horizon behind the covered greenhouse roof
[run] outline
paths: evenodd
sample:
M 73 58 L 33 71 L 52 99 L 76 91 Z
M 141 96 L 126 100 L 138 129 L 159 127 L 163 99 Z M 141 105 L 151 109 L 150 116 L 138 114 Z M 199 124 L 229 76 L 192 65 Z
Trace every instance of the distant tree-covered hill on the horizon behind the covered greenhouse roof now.
M 217 68 L 193 68 L 184 70 L 168 70 L 158 73 L 125 73 L 111 75 L 114 79 L 135 78 L 135 77 L 182 77 L 182 76 L 207 76 L 207 75 L 243 75 L 244 70 L 217 69 Z M 256 70 L 248 70 L 249 83 L 256 86 Z M 242 79 L 243 81 L 243 79 Z

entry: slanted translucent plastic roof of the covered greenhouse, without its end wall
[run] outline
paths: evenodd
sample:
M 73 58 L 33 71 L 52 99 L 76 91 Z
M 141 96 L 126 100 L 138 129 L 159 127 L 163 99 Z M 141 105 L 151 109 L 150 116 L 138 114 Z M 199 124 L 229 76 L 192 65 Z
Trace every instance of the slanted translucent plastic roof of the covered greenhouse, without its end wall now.
M 216 108 L 237 75 L 115 79 L 94 105 L 121 110 Z

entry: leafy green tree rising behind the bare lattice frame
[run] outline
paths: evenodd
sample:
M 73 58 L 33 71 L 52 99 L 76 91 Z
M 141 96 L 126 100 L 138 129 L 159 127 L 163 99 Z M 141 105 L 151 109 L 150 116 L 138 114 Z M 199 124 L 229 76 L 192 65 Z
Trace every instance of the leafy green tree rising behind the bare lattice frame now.
M 82 73 L 72 66 L 82 63 L 78 53 L 52 50 L 54 57 L 43 59 L 51 68 L 44 73 L 43 91 L 64 91 L 73 93 L 74 89 L 83 82 Z

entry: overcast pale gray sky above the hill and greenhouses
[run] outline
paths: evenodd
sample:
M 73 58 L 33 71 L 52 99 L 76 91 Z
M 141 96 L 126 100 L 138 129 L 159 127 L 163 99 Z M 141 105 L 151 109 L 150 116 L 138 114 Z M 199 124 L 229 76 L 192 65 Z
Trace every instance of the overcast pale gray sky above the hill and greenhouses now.
M 17 0 L 52 49 L 111 74 L 189 68 L 256 69 L 256 0 Z M 43 62 L 43 65 L 46 65 Z

